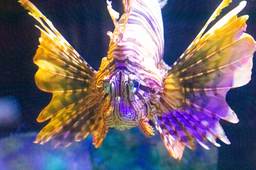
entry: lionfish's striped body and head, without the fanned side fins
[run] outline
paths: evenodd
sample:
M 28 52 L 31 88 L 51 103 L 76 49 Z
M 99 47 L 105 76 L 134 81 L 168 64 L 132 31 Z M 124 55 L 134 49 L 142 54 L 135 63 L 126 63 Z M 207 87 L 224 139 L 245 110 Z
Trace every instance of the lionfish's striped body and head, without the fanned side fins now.
M 119 130 L 138 126 L 143 117 L 152 116 L 160 97 L 157 93 L 162 91 L 162 76 L 157 65 L 164 50 L 158 1 L 134 1 L 132 5 L 126 1 L 124 4 L 128 6 L 125 14 L 118 23 L 114 18 L 116 29 L 108 32 L 111 38 L 108 56 L 103 58 L 96 78 L 97 87 L 105 89 L 101 92 L 102 121 Z M 111 3 L 108 8 L 112 16 Z M 154 10 L 150 10 L 152 8 Z

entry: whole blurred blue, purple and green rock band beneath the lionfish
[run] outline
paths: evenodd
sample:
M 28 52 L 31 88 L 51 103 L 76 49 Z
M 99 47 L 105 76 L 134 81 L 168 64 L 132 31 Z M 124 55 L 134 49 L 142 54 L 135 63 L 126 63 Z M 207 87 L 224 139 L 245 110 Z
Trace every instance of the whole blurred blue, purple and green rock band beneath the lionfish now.
M 167 152 L 157 133 L 144 136 L 138 128 L 110 129 L 99 148 L 91 137 L 67 148 L 51 149 L 33 141 L 37 133 L 25 133 L 0 139 L 0 169 L 217 169 L 218 150 L 185 148 L 181 161 Z

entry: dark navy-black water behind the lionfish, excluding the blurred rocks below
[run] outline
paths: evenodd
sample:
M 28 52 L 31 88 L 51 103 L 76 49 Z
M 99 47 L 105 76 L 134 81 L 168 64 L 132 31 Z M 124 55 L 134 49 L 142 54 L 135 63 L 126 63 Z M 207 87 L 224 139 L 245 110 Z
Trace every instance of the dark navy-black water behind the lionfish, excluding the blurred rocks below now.
M 105 1 L 31 1 L 95 69 L 106 56 L 109 46 L 107 31 L 114 25 Z M 223 13 L 240 1 L 234 0 Z M 221 1 L 168 1 L 162 9 L 165 53 L 164 60 L 172 65 L 194 40 Z M 113 8 L 123 13 L 120 0 L 112 1 Z M 238 15 L 249 15 L 247 33 L 256 38 L 256 2 L 248 0 Z M 33 63 L 40 31 L 39 24 L 17 1 L 0 1 L 0 98 L 12 96 L 20 104 L 20 118 L 11 126 L 0 126 L 0 137 L 13 133 L 39 131 L 47 122 L 36 117 L 47 106 L 51 94 L 39 90 L 34 82 L 38 67 Z M 218 19 L 218 18 L 217 18 Z M 231 145 L 218 140 L 218 169 L 256 168 L 256 67 L 253 61 L 249 84 L 231 89 L 227 94 L 229 106 L 236 112 L 239 123 L 220 121 Z M 1 146 L 0 146 L 1 148 Z M 172 158 L 170 158 L 172 159 Z

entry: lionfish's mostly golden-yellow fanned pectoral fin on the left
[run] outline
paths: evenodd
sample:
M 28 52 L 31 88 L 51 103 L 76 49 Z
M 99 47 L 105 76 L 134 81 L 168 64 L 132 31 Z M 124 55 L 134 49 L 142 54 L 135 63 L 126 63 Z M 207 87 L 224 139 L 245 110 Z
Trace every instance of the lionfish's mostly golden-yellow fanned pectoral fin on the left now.
M 34 57 L 34 63 L 39 67 L 35 81 L 39 89 L 52 93 L 53 97 L 37 121 L 51 121 L 40 131 L 35 143 L 44 144 L 53 138 L 53 147 L 57 147 L 68 146 L 74 140 L 81 141 L 94 133 L 99 122 L 99 103 L 95 100 L 94 90 L 97 72 L 32 3 L 19 2 L 46 30 L 36 25 L 41 37 Z

